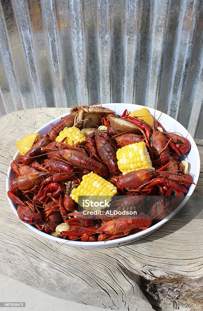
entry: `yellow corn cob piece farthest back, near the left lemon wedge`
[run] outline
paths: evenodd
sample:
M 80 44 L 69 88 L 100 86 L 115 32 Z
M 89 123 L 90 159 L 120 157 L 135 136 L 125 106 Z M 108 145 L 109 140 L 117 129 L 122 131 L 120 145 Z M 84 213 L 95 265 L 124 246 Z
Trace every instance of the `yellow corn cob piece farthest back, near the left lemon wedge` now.
M 71 146 L 73 145 L 72 141 L 74 142 L 75 146 L 78 146 L 79 142 L 80 145 L 83 145 L 86 138 L 79 130 L 79 128 L 76 128 L 75 126 L 71 128 L 65 127 L 63 131 L 59 133 L 59 136 L 56 137 L 56 142 L 61 142 L 65 137 L 67 137 L 64 141 L 65 144 L 69 144 Z

